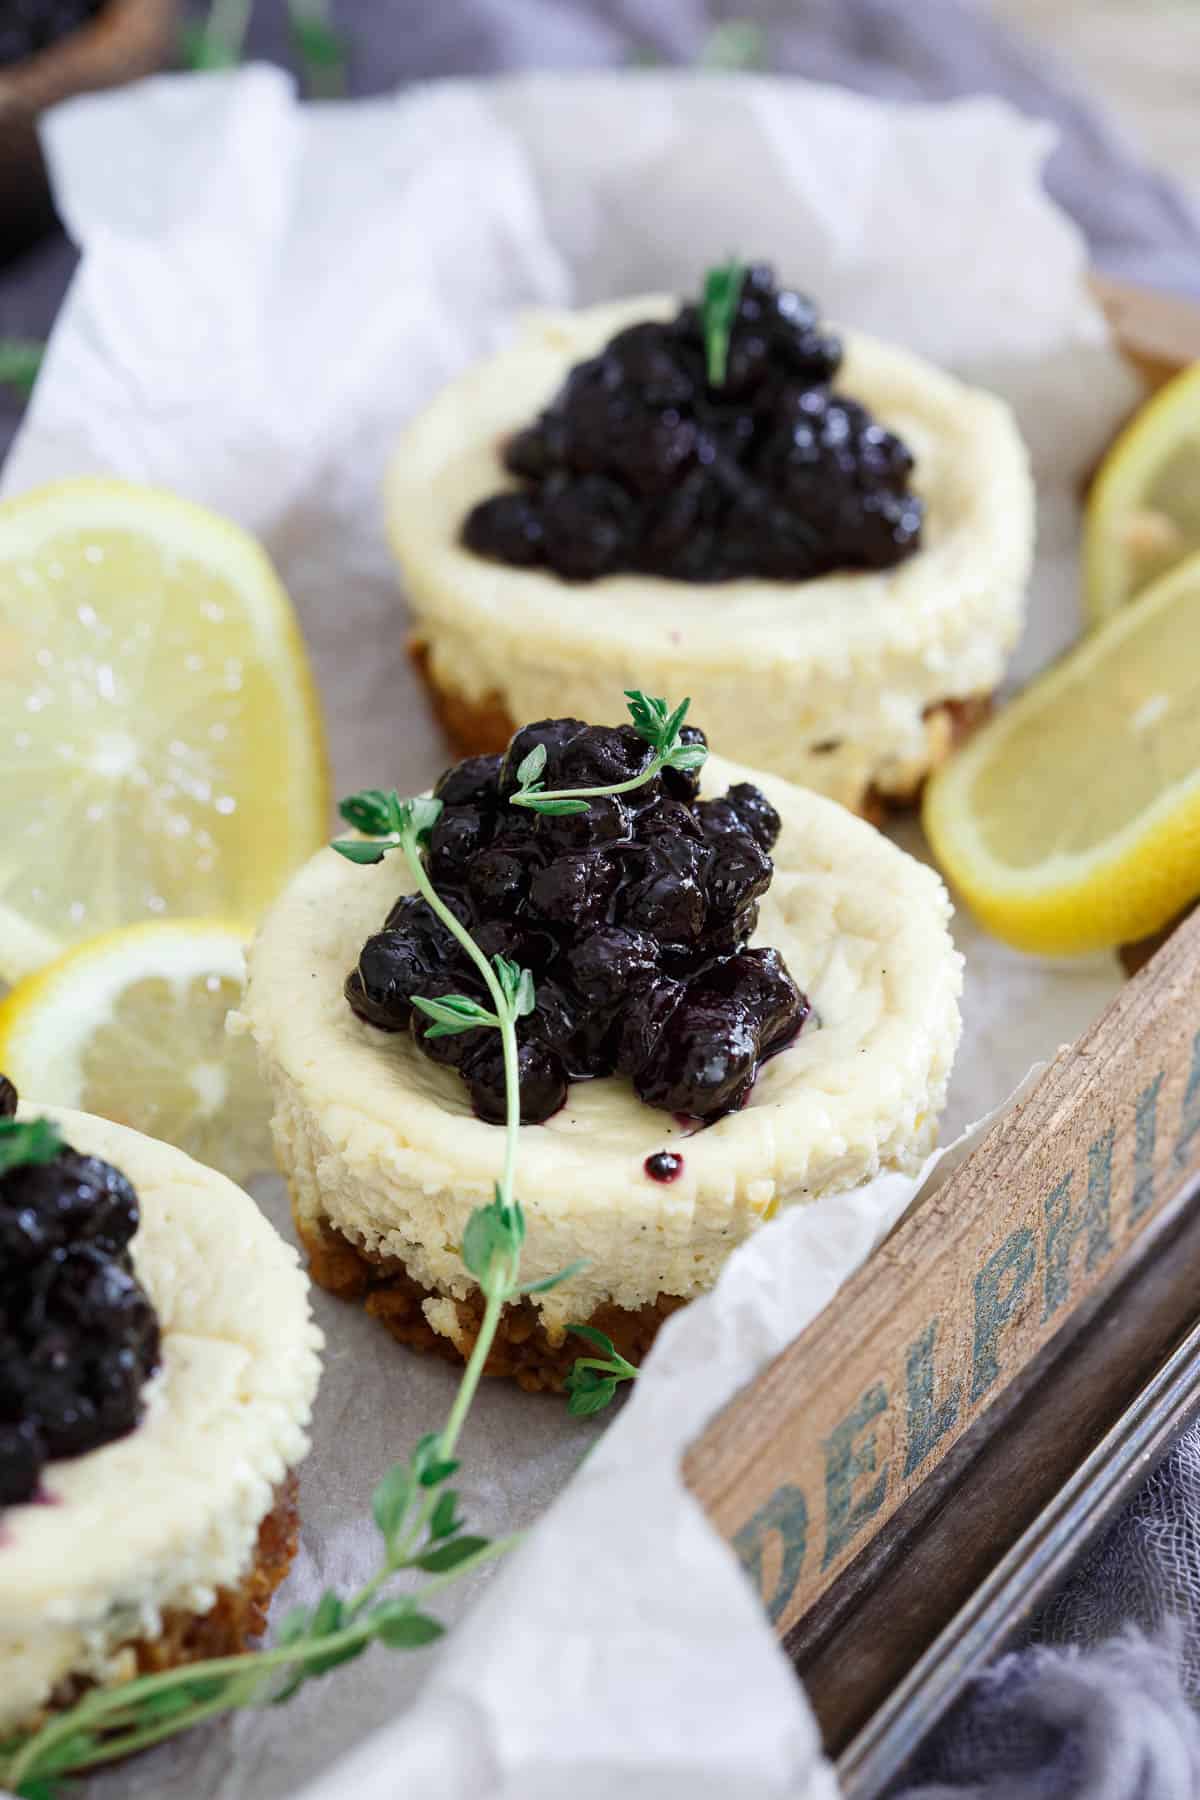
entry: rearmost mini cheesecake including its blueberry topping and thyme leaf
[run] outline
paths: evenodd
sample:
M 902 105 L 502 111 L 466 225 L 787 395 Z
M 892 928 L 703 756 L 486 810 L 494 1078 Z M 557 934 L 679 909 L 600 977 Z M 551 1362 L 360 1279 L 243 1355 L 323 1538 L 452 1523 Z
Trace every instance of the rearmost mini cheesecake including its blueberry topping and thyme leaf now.
M 986 707 L 1033 545 L 1002 401 L 736 265 L 531 317 L 408 427 L 387 515 L 461 751 L 640 680 L 855 810 Z

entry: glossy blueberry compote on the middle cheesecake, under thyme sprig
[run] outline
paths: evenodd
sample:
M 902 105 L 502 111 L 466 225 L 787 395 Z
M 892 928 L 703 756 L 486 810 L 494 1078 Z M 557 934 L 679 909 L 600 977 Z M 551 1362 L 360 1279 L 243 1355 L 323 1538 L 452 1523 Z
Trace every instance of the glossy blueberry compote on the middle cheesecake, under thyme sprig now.
M 684 727 L 684 740 L 703 733 Z M 630 725 L 578 718 L 525 725 L 500 756 L 448 769 L 425 864 L 488 956 L 533 972 L 536 1010 L 518 1024 L 522 1121 L 551 1118 L 567 1084 L 628 1075 L 640 1100 L 714 1120 L 739 1107 L 757 1066 L 808 1015 L 777 950 L 747 949 L 772 878 L 779 815 L 750 783 L 698 799 L 698 776 L 666 769 L 587 812 L 547 817 L 509 805 L 516 769 L 543 743 L 545 787 L 610 787 L 649 749 Z M 455 1067 L 475 1112 L 504 1121 L 495 1030 L 425 1035 L 410 995 L 488 1001 L 473 963 L 419 896 L 396 902 L 345 981 L 354 1012 L 412 1031 Z

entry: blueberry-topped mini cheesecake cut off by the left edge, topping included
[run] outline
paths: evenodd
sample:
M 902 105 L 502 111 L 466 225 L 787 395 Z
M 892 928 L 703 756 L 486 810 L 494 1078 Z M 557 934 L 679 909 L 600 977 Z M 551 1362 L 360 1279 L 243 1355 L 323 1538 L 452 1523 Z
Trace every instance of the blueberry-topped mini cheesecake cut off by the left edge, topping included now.
M 0 1730 L 245 1649 L 295 1553 L 304 1276 L 239 1188 L 0 1082 Z

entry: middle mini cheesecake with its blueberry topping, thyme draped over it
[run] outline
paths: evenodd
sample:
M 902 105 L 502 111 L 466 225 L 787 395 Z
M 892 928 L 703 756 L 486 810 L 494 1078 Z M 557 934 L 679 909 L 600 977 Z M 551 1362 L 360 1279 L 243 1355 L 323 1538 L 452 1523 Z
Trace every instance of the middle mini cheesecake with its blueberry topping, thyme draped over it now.
M 703 742 L 682 729 L 684 763 Z M 637 729 L 578 718 L 457 763 L 434 801 L 423 875 L 529 981 L 522 1274 L 572 1267 L 507 1307 L 493 1373 L 558 1386 L 570 1323 L 637 1355 L 779 1206 L 919 1165 L 961 990 L 930 869 L 813 792 L 716 756 L 653 772 Z M 412 871 L 326 850 L 259 932 L 245 1017 L 315 1278 L 466 1355 L 459 1251 L 507 1087 L 495 1031 L 430 1031 L 450 997 L 486 1004 Z

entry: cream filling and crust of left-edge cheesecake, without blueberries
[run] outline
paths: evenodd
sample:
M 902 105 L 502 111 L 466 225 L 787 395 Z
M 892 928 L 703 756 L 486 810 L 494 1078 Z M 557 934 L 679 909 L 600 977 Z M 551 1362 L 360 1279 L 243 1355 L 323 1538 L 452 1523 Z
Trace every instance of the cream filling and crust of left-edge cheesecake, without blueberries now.
M 131 1431 L 45 1463 L 0 1512 L 0 1728 L 88 1683 L 246 1647 L 297 1544 L 320 1332 L 295 1251 L 223 1175 L 85 1112 L 50 1118 L 121 1170 L 133 1274 L 158 1321 Z

